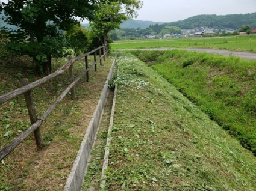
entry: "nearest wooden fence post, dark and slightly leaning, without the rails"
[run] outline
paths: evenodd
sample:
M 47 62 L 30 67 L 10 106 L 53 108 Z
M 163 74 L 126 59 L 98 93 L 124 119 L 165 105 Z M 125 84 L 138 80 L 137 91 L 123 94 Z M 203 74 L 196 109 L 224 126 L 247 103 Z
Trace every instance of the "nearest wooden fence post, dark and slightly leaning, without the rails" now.
M 27 78 L 21 79 L 20 84 L 22 86 L 28 85 L 28 79 Z M 26 104 L 27 104 L 27 108 L 28 108 L 28 115 L 30 115 L 30 121 L 31 121 L 31 125 L 32 125 L 32 124 L 36 123 L 36 121 L 38 119 L 37 119 L 37 115 L 36 115 L 34 101 L 33 101 L 33 98 L 31 97 L 31 93 L 32 93 L 32 90 L 25 92 L 24 97 L 26 100 Z M 42 138 L 42 135 L 40 132 L 40 127 L 38 127 L 36 130 L 34 130 L 34 136 L 35 136 L 37 148 L 43 148 L 43 138 Z

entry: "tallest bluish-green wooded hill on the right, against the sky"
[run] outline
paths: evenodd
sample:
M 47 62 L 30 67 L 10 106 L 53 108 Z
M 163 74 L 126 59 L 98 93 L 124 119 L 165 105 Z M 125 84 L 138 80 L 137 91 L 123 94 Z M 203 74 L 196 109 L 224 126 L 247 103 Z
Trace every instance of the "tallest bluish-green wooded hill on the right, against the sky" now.
M 196 27 L 208 27 L 217 29 L 240 29 L 243 25 L 249 25 L 251 28 L 256 27 L 256 13 L 248 14 L 228 14 L 224 16 L 198 15 L 177 22 L 165 23 L 165 26 L 177 26 L 181 29 L 193 29 Z

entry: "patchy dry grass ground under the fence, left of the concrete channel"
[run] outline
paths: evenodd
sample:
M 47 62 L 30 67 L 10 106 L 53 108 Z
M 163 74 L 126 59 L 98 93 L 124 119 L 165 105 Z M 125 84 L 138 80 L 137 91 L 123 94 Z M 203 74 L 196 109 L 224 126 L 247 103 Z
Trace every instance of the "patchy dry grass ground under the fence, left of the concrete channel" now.
M 89 63 L 93 56 L 89 56 Z M 19 86 L 19 79 L 27 77 L 30 82 L 39 79 L 33 74 L 30 58 L 2 60 L 0 65 L 0 94 Z M 53 70 L 67 62 L 66 58 L 54 59 Z M 100 98 L 109 73 L 110 58 L 98 65 L 98 71 L 90 71 L 90 82 L 86 77 L 75 86 L 76 100 L 67 95 L 60 105 L 40 127 L 45 147 L 37 151 L 33 135 L 29 136 L 0 164 L 0 190 L 63 190 L 72 168 L 76 153 L 93 111 Z M 84 59 L 74 64 L 75 77 L 84 70 Z M 69 85 L 69 72 L 65 72 L 33 89 L 37 115 L 43 114 L 58 95 Z M 23 96 L 16 97 L 0 106 L 0 148 L 11 142 L 30 126 Z

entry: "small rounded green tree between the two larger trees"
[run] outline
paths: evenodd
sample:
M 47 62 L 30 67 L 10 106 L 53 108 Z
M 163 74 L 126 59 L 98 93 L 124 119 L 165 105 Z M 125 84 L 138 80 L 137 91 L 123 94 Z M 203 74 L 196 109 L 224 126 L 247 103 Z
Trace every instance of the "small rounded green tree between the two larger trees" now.
M 69 46 L 75 52 L 75 56 L 79 56 L 82 51 L 87 50 L 89 47 L 89 31 L 85 28 L 81 28 L 81 25 L 73 25 L 72 28 L 64 34 L 69 41 Z

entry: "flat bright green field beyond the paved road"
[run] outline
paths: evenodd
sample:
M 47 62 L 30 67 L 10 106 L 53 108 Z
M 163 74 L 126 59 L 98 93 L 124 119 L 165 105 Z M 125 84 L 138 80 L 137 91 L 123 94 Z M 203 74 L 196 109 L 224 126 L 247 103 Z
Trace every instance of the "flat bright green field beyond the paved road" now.
M 160 47 L 195 47 L 256 52 L 256 35 L 207 38 L 146 39 L 116 41 L 112 49 L 142 49 Z

